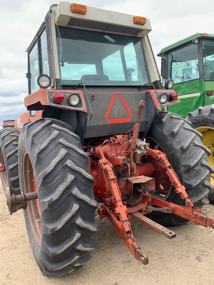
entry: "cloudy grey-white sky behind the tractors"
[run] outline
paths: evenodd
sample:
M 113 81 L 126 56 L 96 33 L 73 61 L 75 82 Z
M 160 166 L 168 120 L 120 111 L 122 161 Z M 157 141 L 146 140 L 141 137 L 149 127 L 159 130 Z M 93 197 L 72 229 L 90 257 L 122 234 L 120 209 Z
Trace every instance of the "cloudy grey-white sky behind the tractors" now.
M 53 0 L 0 0 L 0 125 L 25 112 L 27 95 L 26 48 Z M 214 1 L 208 0 L 78 0 L 76 3 L 147 17 L 154 54 L 197 32 L 214 34 Z M 160 58 L 156 56 L 160 69 Z

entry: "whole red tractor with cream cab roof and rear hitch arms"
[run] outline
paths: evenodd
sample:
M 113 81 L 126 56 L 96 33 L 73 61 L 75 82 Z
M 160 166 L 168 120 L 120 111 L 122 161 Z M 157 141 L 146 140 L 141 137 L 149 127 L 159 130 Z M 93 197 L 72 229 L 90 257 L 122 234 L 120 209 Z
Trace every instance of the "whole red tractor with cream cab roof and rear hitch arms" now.
M 29 113 L 0 132 L 1 178 L 43 275 L 91 258 L 96 212 L 143 264 L 132 219 L 169 239 L 165 226 L 187 220 L 214 228 L 200 210 L 213 195 L 210 151 L 164 111 L 179 100 L 172 80 L 161 85 L 150 31 L 144 17 L 60 2 L 27 49 Z

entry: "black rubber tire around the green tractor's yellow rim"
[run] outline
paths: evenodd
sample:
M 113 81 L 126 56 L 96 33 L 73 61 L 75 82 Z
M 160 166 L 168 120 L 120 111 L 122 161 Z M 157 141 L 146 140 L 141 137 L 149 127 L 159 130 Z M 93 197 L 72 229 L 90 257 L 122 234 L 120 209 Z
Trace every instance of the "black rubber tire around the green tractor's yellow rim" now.
M 214 104 L 200 107 L 199 109 L 189 112 L 186 119 L 193 124 L 193 128 L 212 127 L 214 128 Z M 209 191 L 208 200 L 214 205 L 214 186 Z

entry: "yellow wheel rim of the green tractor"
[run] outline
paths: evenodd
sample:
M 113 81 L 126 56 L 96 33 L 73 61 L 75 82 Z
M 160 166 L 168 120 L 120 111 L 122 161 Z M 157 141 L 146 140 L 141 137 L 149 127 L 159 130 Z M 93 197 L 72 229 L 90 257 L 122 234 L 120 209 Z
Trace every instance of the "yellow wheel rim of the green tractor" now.
M 197 127 L 196 131 L 203 135 L 202 143 L 211 151 L 211 154 L 208 157 L 209 164 L 214 167 L 214 128 L 202 126 Z M 210 182 L 214 185 L 214 173 L 211 174 Z

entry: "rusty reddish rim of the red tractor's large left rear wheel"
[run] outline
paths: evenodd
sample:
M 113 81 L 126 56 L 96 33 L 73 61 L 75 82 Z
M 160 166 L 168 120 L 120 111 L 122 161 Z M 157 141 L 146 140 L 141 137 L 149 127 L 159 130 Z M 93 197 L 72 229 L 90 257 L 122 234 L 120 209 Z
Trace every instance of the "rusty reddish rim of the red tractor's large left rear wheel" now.
M 33 167 L 29 154 L 23 153 L 22 157 L 22 173 L 23 173 L 23 186 L 24 193 L 31 193 L 37 191 L 36 180 L 33 173 Z M 39 199 L 27 202 L 28 217 L 31 224 L 31 229 L 37 244 L 41 244 L 42 227 L 39 208 Z

